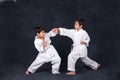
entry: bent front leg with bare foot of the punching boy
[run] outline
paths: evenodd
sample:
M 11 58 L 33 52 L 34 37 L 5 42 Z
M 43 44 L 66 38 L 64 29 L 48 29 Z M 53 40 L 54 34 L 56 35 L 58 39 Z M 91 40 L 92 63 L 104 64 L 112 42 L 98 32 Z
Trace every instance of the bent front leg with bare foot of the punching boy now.
M 68 72 L 67 75 L 74 75 L 76 74 L 75 72 L 75 64 L 76 61 L 79 59 L 79 54 L 75 54 L 75 51 L 72 51 L 69 56 L 68 56 Z

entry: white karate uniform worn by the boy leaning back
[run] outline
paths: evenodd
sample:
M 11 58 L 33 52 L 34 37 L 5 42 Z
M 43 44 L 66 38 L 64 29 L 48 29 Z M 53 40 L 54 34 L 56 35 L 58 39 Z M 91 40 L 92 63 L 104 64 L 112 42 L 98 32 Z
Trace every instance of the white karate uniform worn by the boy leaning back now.
M 35 37 L 34 45 L 35 48 L 39 51 L 38 56 L 33 61 L 33 63 L 28 68 L 28 71 L 34 73 L 39 67 L 44 63 L 51 62 L 52 64 L 52 73 L 59 72 L 59 66 L 61 63 L 61 58 L 59 57 L 56 49 L 51 45 L 50 37 L 55 36 L 56 34 L 50 31 L 45 33 L 45 41 L 47 41 L 47 46 L 43 48 L 43 40 Z

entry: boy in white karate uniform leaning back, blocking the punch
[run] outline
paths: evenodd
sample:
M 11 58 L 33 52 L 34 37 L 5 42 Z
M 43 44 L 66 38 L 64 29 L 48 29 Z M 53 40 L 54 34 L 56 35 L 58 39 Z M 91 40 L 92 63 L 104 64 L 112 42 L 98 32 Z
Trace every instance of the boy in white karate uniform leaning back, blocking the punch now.
M 52 73 L 60 74 L 59 67 L 61 58 L 59 57 L 56 49 L 51 45 L 50 37 L 57 34 L 56 29 L 52 29 L 49 33 L 44 32 L 44 28 L 37 26 L 35 28 L 36 37 L 34 40 L 35 48 L 38 50 L 38 56 L 25 72 L 26 75 L 34 73 L 44 63 L 51 62 Z

